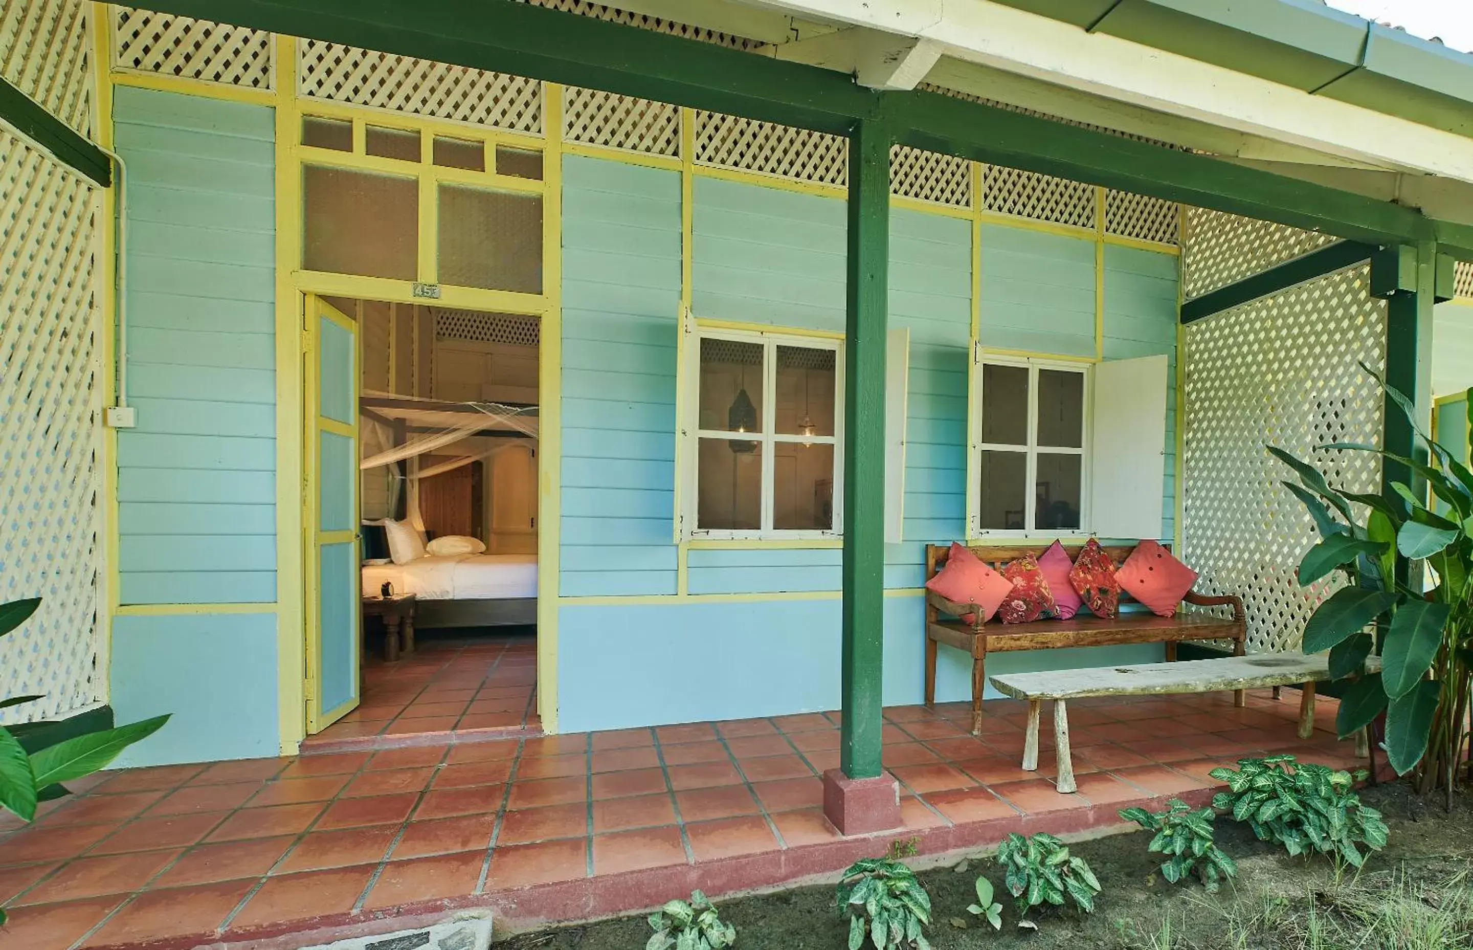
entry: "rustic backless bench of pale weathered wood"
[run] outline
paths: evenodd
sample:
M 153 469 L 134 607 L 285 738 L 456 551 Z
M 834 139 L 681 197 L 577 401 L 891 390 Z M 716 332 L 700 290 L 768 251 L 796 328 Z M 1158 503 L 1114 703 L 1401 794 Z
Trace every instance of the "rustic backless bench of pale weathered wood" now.
M 1367 670 L 1380 669 L 1379 657 L 1368 657 Z M 1299 738 L 1314 735 L 1314 685 L 1330 679 L 1327 655 L 1299 652 L 1261 652 L 1221 657 L 1217 660 L 1184 660 L 1181 663 L 1140 663 L 1136 666 L 1106 666 L 1084 670 L 1052 670 L 1046 673 L 1005 673 L 991 683 L 1003 695 L 1028 701 L 1028 732 L 1022 745 L 1022 767 L 1038 767 L 1038 717 L 1044 700 L 1053 703 L 1053 744 L 1059 761 L 1061 792 L 1074 791 L 1074 761 L 1069 757 L 1069 716 L 1065 701 L 1084 697 L 1140 697 L 1180 692 L 1212 692 L 1261 689 L 1265 686 L 1302 685 L 1299 698 Z M 1242 704 L 1239 704 L 1242 706 Z M 1364 732 L 1357 736 L 1357 754 L 1368 756 Z

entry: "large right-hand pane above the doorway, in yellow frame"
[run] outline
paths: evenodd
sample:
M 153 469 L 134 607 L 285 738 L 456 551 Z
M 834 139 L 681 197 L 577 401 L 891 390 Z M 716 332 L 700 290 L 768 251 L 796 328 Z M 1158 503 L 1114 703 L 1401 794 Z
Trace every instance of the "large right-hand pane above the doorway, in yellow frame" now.
M 440 283 L 542 293 L 542 196 L 442 184 Z

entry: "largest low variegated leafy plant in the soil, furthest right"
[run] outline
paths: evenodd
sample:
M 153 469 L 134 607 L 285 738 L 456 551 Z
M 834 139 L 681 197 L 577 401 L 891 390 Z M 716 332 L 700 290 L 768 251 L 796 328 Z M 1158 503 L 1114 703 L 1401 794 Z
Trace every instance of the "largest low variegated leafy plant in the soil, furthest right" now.
M 1211 776 L 1227 782 L 1212 807 L 1248 822 L 1259 841 L 1277 841 L 1289 854 L 1330 854 L 1360 868 L 1367 857 L 1360 845 L 1367 851 L 1386 847 L 1380 812 L 1361 804 L 1354 791 L 1364 772 L 1270 756 L 1240 759 L 1237 769 L 1212 769 Z

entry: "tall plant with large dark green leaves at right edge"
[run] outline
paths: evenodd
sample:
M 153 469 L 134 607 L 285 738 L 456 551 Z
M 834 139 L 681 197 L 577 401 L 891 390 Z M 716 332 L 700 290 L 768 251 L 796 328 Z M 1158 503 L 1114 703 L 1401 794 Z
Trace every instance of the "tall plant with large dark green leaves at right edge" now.
M 1416 770 L 1421 792 L 1444 788 L 1451 807 L 1473 691 L 1473 473 L 1421 430 L 1404 393 L 1365 364 L 1361 368 L 1410 423 L 1413 458 L 1354 442 L 1318 448 L 1382 455 L 1388 474 L 1404 479 L 1392 482 L 1391 493 L 1336 489 L 1314 465 L 1268 448 L 1298 476 L 1283 485 L 1320 532 L 1320 542 L 1299 561 L 1299 583 L 1318 583 L 1335 571 L 1349 582 L 1309 617 L 1304 651 L 1329 650 L 1330 676 L 1352 680 L 1336 717 L 1340 738 L 1385 711 L 1388 761 L 1398 775 Z M 1473 421 L 1473 390 L 1469 395 Z M 1427 592 L 1408 582 L 1420 577 L 1420 564 L 1436 571 L 1436 586 Z M 1377 635 L 1367 632 L 1373 623 L 1380 624 Z M 1368 672 L 1365 657 L 1377 645 L 1380 670 Z

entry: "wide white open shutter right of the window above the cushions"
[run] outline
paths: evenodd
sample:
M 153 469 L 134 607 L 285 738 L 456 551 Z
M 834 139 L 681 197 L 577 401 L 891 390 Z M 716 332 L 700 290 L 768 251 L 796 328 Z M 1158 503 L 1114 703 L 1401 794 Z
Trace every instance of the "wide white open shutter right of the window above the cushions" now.
M 1158 538 L 1167 473 L 1167 358 L 1094 365 L 1090 530 Z

